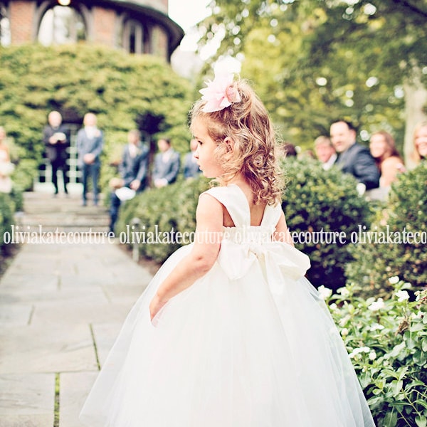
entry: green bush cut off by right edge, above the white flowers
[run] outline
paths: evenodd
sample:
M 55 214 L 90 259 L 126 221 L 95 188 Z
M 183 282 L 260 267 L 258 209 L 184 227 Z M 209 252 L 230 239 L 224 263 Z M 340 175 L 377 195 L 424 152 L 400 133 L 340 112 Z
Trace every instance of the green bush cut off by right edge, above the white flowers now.
M 383 297 L 389 295 L 389 278 L 394 276 L 416 289 L 426 287 L 427 162 L 399 175 L 391 186 L 386 209 L 379 211 L 367 232 L 376 241 L 352 248 L 354 262 L 346 270 L 349 281 L 362 285 L 367 295 Z M 418 233 L 418 243 L 408 241 L 408 233 Z M 389 242 L 381 240 L 382 236 Z

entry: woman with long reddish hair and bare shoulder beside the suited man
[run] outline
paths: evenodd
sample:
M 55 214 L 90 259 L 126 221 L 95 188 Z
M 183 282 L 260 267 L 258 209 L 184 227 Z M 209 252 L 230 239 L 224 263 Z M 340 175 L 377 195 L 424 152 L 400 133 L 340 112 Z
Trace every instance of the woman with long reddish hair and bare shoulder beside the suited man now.
M 371 135 L 369 150 L 381 174 L 380 187 L 389 187 L 400 172 L 405 172 L 404 160 L 396 149 L 394 137 L 380 130 Z

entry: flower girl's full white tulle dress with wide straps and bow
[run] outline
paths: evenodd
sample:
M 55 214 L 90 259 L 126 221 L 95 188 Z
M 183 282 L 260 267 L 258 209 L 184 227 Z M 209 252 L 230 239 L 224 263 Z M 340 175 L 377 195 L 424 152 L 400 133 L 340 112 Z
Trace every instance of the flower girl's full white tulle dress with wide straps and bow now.
M 209 189 L 224 228 L 209 273 L 154 317 L 149 302 L 189 251 L 176 251 L 136 302 L 80 413 L 89 427 L 374 426 L 307 255 L 271 241 L 280 206 L 250 226 L 236 185 Z

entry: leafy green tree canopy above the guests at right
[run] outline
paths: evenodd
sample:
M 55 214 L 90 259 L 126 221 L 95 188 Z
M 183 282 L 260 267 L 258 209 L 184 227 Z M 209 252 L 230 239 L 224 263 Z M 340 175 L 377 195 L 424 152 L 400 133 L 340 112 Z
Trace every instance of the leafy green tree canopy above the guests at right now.
M 337 117 L 404 136 L 404 81 L 427 83 L 426 0 L 213 0 L 201 46 L 222 37 L 216 60 L 242 74 L 282 128 L 307 146 Z

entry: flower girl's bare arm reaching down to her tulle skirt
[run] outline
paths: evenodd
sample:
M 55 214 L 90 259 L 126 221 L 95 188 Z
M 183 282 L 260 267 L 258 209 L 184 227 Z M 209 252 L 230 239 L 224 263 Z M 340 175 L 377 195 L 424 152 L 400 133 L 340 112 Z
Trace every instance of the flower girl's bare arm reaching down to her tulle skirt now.
M 193 248 L 159 286 L 149 305 L 152 319 L 172 297 L 211 270 L 221 246 L 222 227 L 223 206 L 209 194 L 201 194 L 196 209 Z

